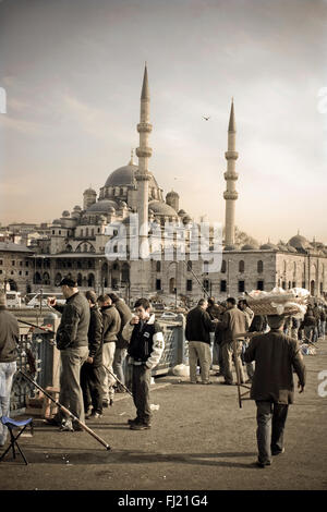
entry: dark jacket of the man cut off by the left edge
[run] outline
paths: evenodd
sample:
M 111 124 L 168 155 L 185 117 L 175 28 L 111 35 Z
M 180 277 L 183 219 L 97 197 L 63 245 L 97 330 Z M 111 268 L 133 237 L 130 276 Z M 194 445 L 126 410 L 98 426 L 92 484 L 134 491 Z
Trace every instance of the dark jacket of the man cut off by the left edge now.
M 16 318 L 5 306 L 0 306 L 0 363 L 13 363 L 17 358 L 20 328 Z

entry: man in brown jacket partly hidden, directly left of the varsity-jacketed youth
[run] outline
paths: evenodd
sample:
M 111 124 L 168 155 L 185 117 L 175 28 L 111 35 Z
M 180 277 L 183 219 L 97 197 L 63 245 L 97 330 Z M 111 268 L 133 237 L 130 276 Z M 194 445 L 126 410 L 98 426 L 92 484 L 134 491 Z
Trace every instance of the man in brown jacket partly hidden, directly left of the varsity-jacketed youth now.
M 117 375 L 117 378 L 124 385 L 125 383 L 125 375 L 124 375 L 124 362 L 128 354 L 128 341 L 122 336 L 122 330 L 124 326 L 131 320 L 132 312 L 129 308 L 128 304 L 120 298 L 116 293 L 109 293 L 109 297 L 112 301 L 116 309 L 119 313 L 121 319 L 121 326 L 119 332 L 117 334 L 117 342 L 116 342 L 116 352 L 114 352 L 114 359 L 113 359 L 113 371 Z M 119 393 L 123 393 L 125 390 L 119 383 L 117 385 L 117 391 Z

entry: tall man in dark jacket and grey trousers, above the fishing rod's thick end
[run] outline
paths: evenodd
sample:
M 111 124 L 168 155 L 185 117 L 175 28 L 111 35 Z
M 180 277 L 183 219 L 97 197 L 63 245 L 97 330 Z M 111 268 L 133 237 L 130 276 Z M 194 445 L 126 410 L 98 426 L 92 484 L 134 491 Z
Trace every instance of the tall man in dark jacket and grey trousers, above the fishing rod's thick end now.
M 48 298 L 48 304 L 62 314 L 56 334 L 57 349 L 60 350 L 61 374 L 59 402 L 84 423 L 84 404 L 81 388 L 81 368 L 88 355 L 89 306 L 77 284 L 70 278 L 60 282 L 65 305 L 57 305 L 56 298 Z M 60 410 L 48 423 L 59 425 L 61 430 L 82 430 L 77 422 Z

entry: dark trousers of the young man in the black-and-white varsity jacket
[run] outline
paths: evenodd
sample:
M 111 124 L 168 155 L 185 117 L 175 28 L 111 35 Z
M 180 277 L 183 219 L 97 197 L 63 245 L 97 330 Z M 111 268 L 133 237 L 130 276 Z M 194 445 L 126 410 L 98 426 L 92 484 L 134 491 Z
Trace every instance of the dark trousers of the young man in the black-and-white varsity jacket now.
M 136 417 L 140 422 L 148 424 L 152 418 L 149 401 L 152 370 L 144 365 L 133 365 L 132 371 L 132 393 L 136 407 Z

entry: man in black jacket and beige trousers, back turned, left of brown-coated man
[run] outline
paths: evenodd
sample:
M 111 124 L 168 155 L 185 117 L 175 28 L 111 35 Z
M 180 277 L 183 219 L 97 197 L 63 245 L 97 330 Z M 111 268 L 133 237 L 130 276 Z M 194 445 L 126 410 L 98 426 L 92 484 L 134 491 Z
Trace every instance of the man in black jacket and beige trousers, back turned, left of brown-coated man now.
M 218 320 L 210 319 L 206 310 L 207 306 L 207 301 L 201 298 L 197 306 L 191 309 L 186 316 L 185 338 L 189 341 L 190 380 L 192 383 L 197 382 L 197 359 L 199 361 L 202 383 L 211 383 L 209 380 L 211 365 L 210 332 L 215 331 Z

